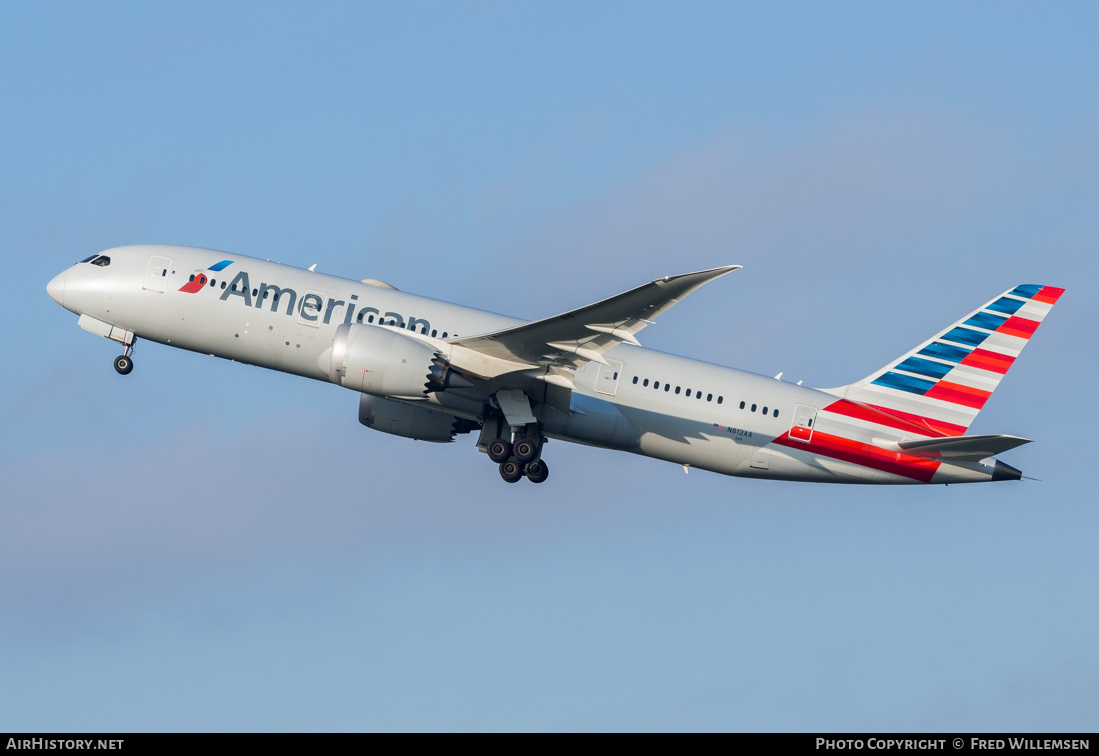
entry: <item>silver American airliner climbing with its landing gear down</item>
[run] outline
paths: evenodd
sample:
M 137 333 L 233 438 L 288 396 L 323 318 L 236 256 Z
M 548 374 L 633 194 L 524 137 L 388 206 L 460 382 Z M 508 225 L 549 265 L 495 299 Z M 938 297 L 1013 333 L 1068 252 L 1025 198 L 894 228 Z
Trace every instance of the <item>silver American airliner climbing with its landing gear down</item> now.
M 536 321 L 244 255 L 107 249 L 46 287 L 80 327 L 331 381 L 367 427 L 426 442 L 477 433 L 508 482 L 540 483 L 547 440 L 730 476 L 840 483 L 1019 480 L 996 455 L 1029 443 L 966 435 L 1064 292 L 1008 289 L 869 376 L 813 389 L 643 348 L 637 335 L 737 265 L 658 278 Z

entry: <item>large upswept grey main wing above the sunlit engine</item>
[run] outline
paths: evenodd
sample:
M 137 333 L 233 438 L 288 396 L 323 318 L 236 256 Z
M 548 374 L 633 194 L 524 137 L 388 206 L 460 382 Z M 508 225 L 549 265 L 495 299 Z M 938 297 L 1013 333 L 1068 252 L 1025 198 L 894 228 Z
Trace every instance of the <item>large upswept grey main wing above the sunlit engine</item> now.
M 553 318 L 478 336 L 454 338 L 448 343 L 457 347 L 458 354 L 468 349 L 498 365 L 511 366 L 510 369 L 495 371 L 495 375 L 530 368 L 571 370 L 586 362 L 606 365 L 603 353 L 622 342 L 640 346 L 636 334 L 650 325 L 653 319 L 703 284 L 740 267 L 726 265 L 658 278 L 651 284 Z M 456 362 L 460 369 L 460 358 Z M 571 382 L 559 370 L 547 371 L 546 376 L 545 379 L 550 382 Z M 555 376 L 559 380 L 554 380 Z

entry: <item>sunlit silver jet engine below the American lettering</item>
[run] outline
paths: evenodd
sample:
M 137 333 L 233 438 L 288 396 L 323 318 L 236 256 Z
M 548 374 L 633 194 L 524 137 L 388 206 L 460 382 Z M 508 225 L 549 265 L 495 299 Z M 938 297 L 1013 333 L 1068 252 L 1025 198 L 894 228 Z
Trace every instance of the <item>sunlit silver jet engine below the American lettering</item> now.
M 388 397 L 424 397 L 473 383 L 428 344 L 377 325 L 344 323 L 332 340 L 329 380 Z

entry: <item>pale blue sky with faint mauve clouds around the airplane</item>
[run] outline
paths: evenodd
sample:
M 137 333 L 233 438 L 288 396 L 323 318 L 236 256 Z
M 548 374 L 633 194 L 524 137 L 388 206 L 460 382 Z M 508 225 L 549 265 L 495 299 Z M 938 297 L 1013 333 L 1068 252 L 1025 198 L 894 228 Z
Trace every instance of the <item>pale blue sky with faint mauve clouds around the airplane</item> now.
M 1099 727 L 1092 3 L 0 5 L 0 730 Z M 737 263 L 653 348 L 811 386 L 1068 292 L 973 426 L 1041 481 L 507 486 L 45 293 L 118 244 L 518 316 Z M 1090 313 L 1090 314 L 1089 314 Z

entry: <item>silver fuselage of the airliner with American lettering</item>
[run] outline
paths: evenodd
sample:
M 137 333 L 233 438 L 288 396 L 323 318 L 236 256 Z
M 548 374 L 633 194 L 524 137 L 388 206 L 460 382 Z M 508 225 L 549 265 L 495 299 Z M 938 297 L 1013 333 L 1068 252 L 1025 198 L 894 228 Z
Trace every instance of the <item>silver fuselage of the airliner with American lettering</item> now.
M 210 249 L 143 245 L 109 249 L 102 257 L 108 265 L 78 264 L 48 287 L 58 303 L 82 315 L 85 327 L 109 335 L 104 329 L 113 326 L 325 382 L 341 324 L 445 341 L 524 322 L 377 282 Z M 587 363 L 576 370 L 568 411 L 535 402 L 546 436 L 744 477 L 873 483 L 1003 477 L 1006 466 L 992 459 L 947 464 L 890 448 L 935 434 L 896 418 L 885 424 L 867 418 L 834 390 L 631 344 L 604 357 L 607 365 Z M 417 402 L 475 422 L 485 421 L 489 409 L 487 398 L 452 390 Z

